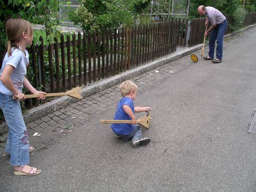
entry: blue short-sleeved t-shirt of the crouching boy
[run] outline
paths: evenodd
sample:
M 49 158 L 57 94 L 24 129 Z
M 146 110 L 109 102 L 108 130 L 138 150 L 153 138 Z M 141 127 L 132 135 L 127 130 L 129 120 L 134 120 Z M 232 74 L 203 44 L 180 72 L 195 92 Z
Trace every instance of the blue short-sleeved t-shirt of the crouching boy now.
M 117 112 L 114 117 L 115 120 L 131 120 L 130 116 L 124 111 L 123 106 L 127 105 L 134 114 L 133 101 L 129 97 L 123 97 L 117 107 Z M 134 131 L 135 126 L 130 123 L 115 123 L 111 124 L 112 130 L 119 135 L 129 135 Z

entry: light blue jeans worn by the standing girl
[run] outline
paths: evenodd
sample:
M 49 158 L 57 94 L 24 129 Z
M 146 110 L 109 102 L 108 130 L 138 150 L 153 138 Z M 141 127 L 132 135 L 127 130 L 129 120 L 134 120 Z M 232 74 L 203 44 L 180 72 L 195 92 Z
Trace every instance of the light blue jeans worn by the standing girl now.
M 0 93 L 0 109 L 9 128 L 5 152 L 11 155 L 10 164 L 13 166 L 28 165 L 29 140 L 20 102 L 12 99 L 12 96 Z

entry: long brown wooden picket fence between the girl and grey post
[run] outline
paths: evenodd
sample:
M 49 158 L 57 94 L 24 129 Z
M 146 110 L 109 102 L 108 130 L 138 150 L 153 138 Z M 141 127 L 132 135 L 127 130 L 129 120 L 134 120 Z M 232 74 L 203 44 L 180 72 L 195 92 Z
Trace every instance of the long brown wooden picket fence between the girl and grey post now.
M 170 20 L 151 25 L 139 25 L 61 35 L 60 42 L 49 46 L 32 45 L 31 65 L 35 87 L 47 93 L 65 92 L 76 86 L 114 76 L 176 51 L 185 46 L 187 20 Z M 46 79 L 46 73 L 48 74 Z M 28 108 L 37 106 L 28 101 Z

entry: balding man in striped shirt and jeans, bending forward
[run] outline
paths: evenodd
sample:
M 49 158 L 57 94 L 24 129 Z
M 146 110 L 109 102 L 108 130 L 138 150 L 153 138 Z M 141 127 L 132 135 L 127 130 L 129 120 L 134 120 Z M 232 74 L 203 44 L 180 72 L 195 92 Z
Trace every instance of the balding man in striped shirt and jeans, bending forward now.
M 223 52 L 223 36 L 227 29 L 226 17 L 214 7 L 200 5 L 197 9 L 200 15 L 206 15 L 206 27 L 208 22 L 212 23 L 212 26 L 206 31 L 205 36 L 208 36 L 209 32 L 212 31 L 209 41 L 209 56 L 204 57 L 205 60 L 212 60 L 213 63 L 221 63 L 222 52 Z M 216 47 L 216 59 L 214 57 L 215 41 L 217 40 Z

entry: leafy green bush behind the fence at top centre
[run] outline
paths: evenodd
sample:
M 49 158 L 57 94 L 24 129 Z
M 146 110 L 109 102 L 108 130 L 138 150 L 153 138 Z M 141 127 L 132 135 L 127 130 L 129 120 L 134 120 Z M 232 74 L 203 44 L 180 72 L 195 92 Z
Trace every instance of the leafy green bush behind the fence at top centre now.
M 83 30 L 130 26 L 134 17 L 148 9 L 151 0 L 81 0 L 69 18 Z

